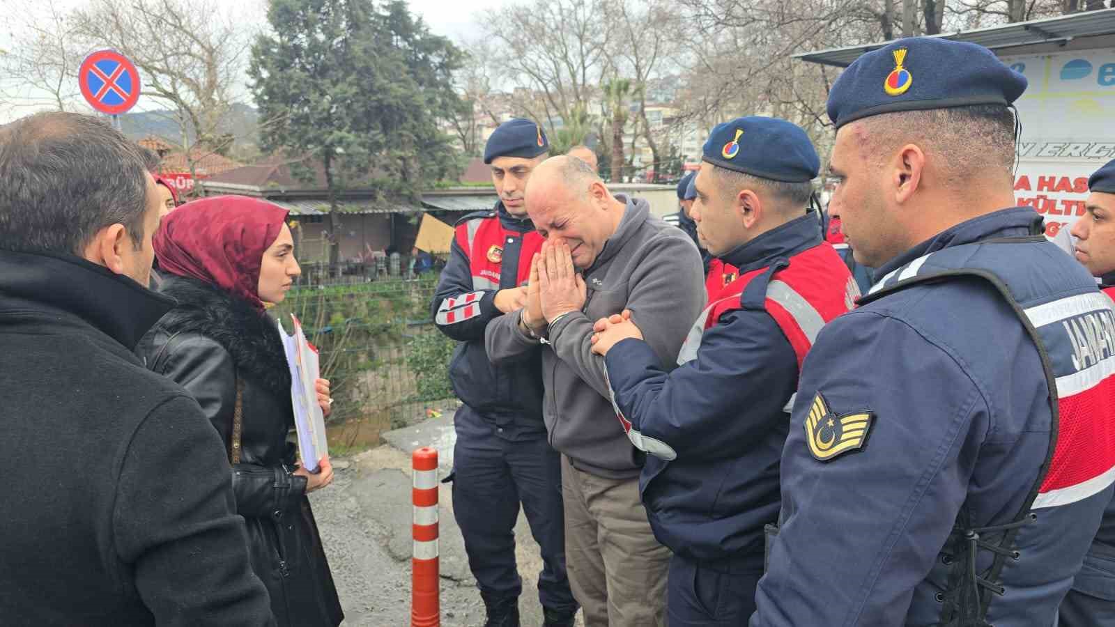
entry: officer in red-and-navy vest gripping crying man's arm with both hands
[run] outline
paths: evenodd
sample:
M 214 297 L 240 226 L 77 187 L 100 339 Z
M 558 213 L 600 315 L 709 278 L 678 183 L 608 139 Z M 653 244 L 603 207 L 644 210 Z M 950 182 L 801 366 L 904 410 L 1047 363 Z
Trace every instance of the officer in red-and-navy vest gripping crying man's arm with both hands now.
M 778 515 L 787 404 L 822 325 L 860 296 L 806 214 L 821 163 L 808 136 L 770 117 L 712 129 L 692 216 L 711 254 L 739 270 L 662 367 L 631 320 L 601 320 L 620 421 L 647 453 L 639 488 L 673 551 L 670 627 L 738 627 L 755 609 L 763 529 Z

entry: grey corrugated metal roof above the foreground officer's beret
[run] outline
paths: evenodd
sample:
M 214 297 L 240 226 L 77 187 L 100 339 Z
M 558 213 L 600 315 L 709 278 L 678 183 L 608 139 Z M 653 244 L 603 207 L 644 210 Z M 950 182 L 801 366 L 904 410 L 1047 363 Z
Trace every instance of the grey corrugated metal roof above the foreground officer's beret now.
M 956 41 L 971 41 L 980 46 L 986 46 L 991 50 L 1002 52 L 1007 48 L 1032 46 L 1036 44 L 1067 44 L 1079 37 L 1098 37 L 1112 33 L 1115 33 L 1115 9 L 1101 9 L 1057 18 L 1030 20 L 1028 22 L 1016 22 L 960 32 L 947 32 L 934 35 L 933 37 L 953 39 Z M 847 67 L 852 65 L 852 61 L 860 58 L 860 55 L 876 50 L 888 44 L 891 44 L 891 41 L 880 41 L 865 46 L 850 46 L 847 48 L 832 48 L 816 52 L 803 52 L 794 55 L 794 58 L 815 64 Z

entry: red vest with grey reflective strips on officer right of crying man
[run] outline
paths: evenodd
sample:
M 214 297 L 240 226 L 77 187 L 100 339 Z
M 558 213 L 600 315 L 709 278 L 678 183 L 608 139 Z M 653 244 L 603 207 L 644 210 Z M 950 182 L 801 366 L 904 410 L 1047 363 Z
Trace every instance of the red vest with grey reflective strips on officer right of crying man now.
M 788 259 L 778 259 L 766 268 L 746 272 L 725 286 L 717 300 L 710 302 L 694 322 L 678 353 L 678 365 L 697 358 L 701 337 L 719 322 L 721 316 L 737 309 L 753 309 L 766 311 L 774 318 L 789 340 L 801 369 L 821 327 L 851 309 L 859 297 L 860 288 L 840 255 L 832 245 L 822 242 Z M 633 428 L 614 398 L 612 406 L 637 448 L 665 460 L 677 457 L 668 444 L 643 436 Z M 786 411 L 792 406 L 793 398 Z

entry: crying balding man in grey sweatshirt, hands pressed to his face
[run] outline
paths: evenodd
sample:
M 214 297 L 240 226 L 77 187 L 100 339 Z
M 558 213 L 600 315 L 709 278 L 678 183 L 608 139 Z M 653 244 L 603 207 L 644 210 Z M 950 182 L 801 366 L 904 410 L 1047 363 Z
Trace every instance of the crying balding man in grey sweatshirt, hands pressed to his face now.
M 617 419 L 590 338 L 595 320 L 629 309 L 661 363 L 673 363 L 705 301 L 700 254 L 646 201 L 612 195 L 578 158 L 539 165 L 526 210 L 546 242 L 526 306 L 488 324 L 487 353 L 508 363 L 545 345 L 544 418 L 562 453 L 565 558 L 585 625 L 665 625 L 670 551 L 640 501 L 646 454 Z

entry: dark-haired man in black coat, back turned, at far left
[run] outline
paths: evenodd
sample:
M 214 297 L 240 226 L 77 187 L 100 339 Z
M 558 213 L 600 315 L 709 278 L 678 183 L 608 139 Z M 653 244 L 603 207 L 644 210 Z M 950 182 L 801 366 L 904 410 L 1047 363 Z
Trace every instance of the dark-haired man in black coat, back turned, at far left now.
M 6 625 L 272 625 L 225 445 L 133 355 L 174 306 L 145 287 L 159 199 L 94 117 L 0 128 Z

